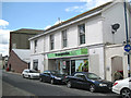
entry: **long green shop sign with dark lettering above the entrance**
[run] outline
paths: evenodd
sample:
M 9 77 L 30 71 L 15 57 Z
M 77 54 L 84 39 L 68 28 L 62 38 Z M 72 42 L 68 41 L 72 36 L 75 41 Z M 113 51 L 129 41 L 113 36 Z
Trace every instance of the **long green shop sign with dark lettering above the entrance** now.
M 87 48 L 82 48 L 73 51 L 58 52 L 58 53 L 48 53 L 48 58 L 62 58 L 62 57 L 71 57 L 71 56 L 82 56 L 87 54 Z

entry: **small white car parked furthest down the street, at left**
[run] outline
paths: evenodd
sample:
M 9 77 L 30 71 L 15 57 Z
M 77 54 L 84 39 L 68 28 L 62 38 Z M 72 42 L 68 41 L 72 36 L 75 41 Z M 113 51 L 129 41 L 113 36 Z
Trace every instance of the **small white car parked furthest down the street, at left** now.
M 22 72 L 22 76 L 23 77 L 27 77 L 27 78 L 39 78 L 39 73 L 34 71 L 34 70 L 28 70 L 28 69 L 25 69 L 23 72 Z

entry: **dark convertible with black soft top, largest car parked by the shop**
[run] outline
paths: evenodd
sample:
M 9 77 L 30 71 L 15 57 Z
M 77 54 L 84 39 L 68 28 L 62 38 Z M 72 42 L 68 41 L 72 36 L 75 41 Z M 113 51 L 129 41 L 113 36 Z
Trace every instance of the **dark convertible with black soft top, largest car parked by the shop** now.
M 79 87 L 90 89 L 90 91 L 111 91 L 112 83 L 98 77 L 94 73 L 75 72 L 71 76 L 66 76 L 67 87 Z

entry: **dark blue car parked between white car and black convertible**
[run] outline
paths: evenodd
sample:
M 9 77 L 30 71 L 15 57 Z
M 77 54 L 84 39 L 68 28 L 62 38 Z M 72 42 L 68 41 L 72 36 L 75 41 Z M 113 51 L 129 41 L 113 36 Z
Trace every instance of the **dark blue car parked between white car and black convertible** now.
M 64 77 L 66 75 L 59 71 L 44 71 L 44 73 L 39 75 L 39 81 L 51 84 L 64 84 Z

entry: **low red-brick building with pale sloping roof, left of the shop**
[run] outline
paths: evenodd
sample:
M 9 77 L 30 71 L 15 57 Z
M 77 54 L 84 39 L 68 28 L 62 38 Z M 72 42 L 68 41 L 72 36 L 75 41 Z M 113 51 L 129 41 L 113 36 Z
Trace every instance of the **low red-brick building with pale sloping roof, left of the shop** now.
M 29 68 L 29 49 L 12 49 L 8 61 L 9 70 L 22 73 Z

